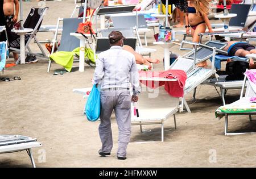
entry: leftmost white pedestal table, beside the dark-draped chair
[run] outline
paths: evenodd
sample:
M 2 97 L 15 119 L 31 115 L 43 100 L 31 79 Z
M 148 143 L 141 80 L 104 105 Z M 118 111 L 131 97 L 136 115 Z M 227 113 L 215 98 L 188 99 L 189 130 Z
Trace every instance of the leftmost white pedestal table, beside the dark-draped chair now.
M 23 30 L 11 30 L 20 36 L 20 64 L 25 63 L 25 34 L 32 32 L 32 28 L 24 28 Z

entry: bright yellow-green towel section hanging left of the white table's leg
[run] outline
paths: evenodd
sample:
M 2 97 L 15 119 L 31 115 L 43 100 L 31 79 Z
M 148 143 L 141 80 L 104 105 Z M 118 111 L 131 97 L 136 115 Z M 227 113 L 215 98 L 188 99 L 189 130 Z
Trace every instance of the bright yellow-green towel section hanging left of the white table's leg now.
M 49 60 L 55 61 L 57 64 L 63 66 L 68 72 L 71 72 L 74 53 L 73 52 L 55 52 L 49 56 Z

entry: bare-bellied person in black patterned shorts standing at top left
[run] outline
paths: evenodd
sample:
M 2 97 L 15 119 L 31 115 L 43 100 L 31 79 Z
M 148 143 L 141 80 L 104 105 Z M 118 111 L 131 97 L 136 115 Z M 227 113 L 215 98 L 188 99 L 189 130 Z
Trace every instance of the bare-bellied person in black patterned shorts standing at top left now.
M 2 0 L 1 0 L 2 1 Z M 14 8 L 15 6 L 15 8 Z M 15 12 L 15 13 L 14 13 Z M 18 21 L 19 15 L 19 1 L 18 0 L 3 0 L 3 13 L 5 14 L 6 30 L 9 41 L 12 41 L 13 36 L 11 30 L 13 29 L 14 23 Z M 19 54 L 13 53 L 14 60 L 18 60 Z

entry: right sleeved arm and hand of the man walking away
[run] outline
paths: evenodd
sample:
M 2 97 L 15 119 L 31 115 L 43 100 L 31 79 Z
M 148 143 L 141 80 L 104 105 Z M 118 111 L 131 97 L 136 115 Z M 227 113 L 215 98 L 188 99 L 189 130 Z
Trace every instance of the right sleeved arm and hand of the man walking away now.
M 141 93 L 141 86 L 139 86 L 139 72 L 136 65 L 135 57 L 133 57 L 133 64 L 131 65 L 130 69 L 130 82 L 131 86 L 133 87 L 133 97 L 137 96 L 138 100 L 138 94 Z

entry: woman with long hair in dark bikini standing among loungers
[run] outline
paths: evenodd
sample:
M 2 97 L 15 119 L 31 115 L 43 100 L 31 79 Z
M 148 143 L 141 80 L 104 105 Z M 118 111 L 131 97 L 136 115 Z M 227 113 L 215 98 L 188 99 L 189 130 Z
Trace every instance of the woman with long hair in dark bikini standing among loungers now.
M 191 35 L 193 42 L 199 42 L 200 37 L 198 34 L 204 33 L 206 28 L 210 33 L 213 32 L 212 26 L 210 26 L 210 21 L 208 19 L 209 13 L 209 1 L 208 0 L 191 0 L 188 1 L 188 10 L 185 15 L 186 22 L 186 33 L 189 34 L 189 27 L 191 30 Z M 207 62 L 198 64 L 198 66 L 207 66 Z

